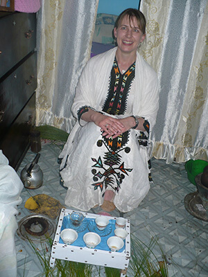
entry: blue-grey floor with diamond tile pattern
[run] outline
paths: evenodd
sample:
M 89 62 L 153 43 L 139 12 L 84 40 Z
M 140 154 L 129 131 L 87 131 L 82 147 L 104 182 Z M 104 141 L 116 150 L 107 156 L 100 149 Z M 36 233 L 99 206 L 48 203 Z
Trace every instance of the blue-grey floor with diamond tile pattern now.
M 44 193 L 58 199 L 64 205 L 66 190 L 59 184 L 57 163 L 61 149 L 62 145 L 58 143 L 42 145 L 38 164 L 44 172 L 44 184 L 35 190 L 22 190 L 23 202 L 19 206 L 17 222 L 31 214 L 24 208 L 26 200 L 31 195 Z M 34 157 L 35 154 L 29 150 L 19 167 L 19 175 Z M 168 262 L 170 277 L 207 277 L 208 222 L 198 220 L 184 208 L 184 197 L 195 192 L 196 186 L 190 184 L 187 179 L 184 165 L 168 165 L 165 161 L 153 159 L 152 166 L 154 184 L 147 197 L 135 211 L 123 215 L 131 220 L 131 233 L 147 244 L 152 237 L 157 236 Z M 96 213 L 96 209 L 92 211 L 94 212 Z M 119 216 L 119 212 L 114 211 L 112 215 Z M 36 277 L 42 273 L 40 262 L 28 241 L 16 235 L 15 242 L 18 277 Z M 39 249 L 40 245 L 36 244 L 36 247 Z M 160 255 L 159 248 L 155 249 L 155 254 Z M 130 272 L 128 277 L 131 277 Z

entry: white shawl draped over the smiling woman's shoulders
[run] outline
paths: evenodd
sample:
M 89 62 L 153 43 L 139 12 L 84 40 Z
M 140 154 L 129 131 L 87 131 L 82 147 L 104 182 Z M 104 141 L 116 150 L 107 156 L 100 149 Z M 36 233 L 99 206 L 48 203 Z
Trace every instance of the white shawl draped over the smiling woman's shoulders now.
M 109 87 L 110 72 L 116 55 L 116 49 L 112 48 L 110 51 L 92 57 L 86 64 L 83 73 L 80 76 L 78 86 L 76 88 L 76 96 L 73 100 L 71 110 L 73 116 L 78 118 L 77 112 L 80 107 L 85 105 L 101 111 L 100 107 L 103 105 L 101 99 L 103 93 L 107 96 Z M 157 110 L 158 110 L 158 81 L 157 74 L 150 67 L 137 52 L 137 60 L 135 66 L 135 93 L 133 115 L 142 116 L 150 123 L 150 132 L 155 125 Z M 105 95 L 104 94 L 104 95 Z M 84 120 L 80 121 L 81 125 L 85 125 Z M 80 127 L 78 121 L 71 130 L 68 141 L 64 145 L 64 149 L 60 154 L 62 165 L 64 166 L 67 155 L 71 152 L 71 142 Z

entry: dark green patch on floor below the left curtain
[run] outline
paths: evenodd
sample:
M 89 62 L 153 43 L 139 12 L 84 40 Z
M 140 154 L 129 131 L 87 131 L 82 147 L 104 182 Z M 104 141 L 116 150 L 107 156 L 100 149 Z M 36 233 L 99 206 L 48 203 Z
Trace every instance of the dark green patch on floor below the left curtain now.
M 69 134 L 64 132 L 62 129 L 50 125 L 42 125 L 35 127 L 40 131 L 40 136 L 42 139 L 50 139 L 51 141 L 67 141 Z

